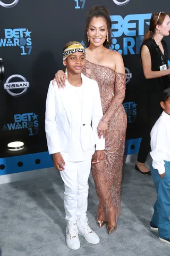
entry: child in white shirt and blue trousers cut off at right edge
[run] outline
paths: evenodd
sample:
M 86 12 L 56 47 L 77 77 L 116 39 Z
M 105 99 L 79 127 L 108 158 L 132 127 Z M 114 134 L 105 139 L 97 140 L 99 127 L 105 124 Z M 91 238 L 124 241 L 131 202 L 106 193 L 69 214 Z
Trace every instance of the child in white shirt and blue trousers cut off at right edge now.
M 170 88 L 161 94 L 163 113 L 151 130 L 151 174 L 158 194 L 152 230 L 158 230 L 159 239 L 170 244 Z

